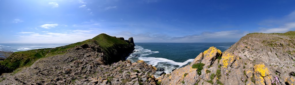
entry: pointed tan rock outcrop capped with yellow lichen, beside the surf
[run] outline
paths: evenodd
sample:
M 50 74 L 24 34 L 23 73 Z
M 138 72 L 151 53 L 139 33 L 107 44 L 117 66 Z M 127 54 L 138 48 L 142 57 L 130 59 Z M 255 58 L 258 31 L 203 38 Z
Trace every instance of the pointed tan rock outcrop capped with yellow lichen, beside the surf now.
M 209 76 L 217 70 L 217 68 L 214 68 L 217 67 L 217 61 L 215 60 L 221 55 L 222 53 L 219 49 L 210 47 L 208 50 L 200 53 L 190 65 L 175 69 L 170 74 L 162 75 L 156 80 L 161 82 L 162 85 L 194 85 L 200 81 L 200 84 L 204 81 L 209 81 Z M 204 63 L 201 75 L 198 74 L 197 68 L 193 68 L 194 64 L 197 63 Z M 206 71 L 211 72 L 206 73 Z

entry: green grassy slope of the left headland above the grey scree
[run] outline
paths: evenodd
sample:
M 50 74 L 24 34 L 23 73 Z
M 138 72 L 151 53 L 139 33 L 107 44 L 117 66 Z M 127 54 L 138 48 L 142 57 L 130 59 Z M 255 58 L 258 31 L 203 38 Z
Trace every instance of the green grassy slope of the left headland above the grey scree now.
M 100 34 L 93 39 L 77 42 L 62 47 L 15 52 L 4 61 L 0 61 L 0 64 L 2 66 L 6 66 L 12 70 L 15 70 L 23 66 L 30 66 L 32 65 L 32 63 L 40 58 L 54 55 L 63 55 L 64 53 L 67 53 L 67 51 L 70 49 L 74 49 L 77 46 L 86 44 L 98 45 L 99 47 L 101 47 L 101 51 L 104 53 L 104 59 L 107 61 L 107 63 L 105 64 L 113 63 L 115 61 L 118 62 L 119 60 L 122 60 L 121 57 L 126 57 L 125 55 L 128 55 L 127 53 L 131 53 L 134 50 L 134 43 L 130 43 L 130 41 L 128 40 L 120 40 L 116 37 L 112 37 L 106 34 Z M 120 53 L 124 53 L 124 56 L 119 56 Z M 110 59 L 112 57 L 114 57 L 114 60 Z

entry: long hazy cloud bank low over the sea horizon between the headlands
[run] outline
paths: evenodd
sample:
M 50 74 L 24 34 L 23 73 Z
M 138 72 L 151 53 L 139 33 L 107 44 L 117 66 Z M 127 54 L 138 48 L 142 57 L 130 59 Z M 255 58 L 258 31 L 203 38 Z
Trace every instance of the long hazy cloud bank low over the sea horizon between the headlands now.
M 219 32 L 202 32 L 199 35 L 187 35 L 183 37 L 173 37 L 156 33 L 118 32 L 106 33 L 111 36 L 129 38 L 133 37 L 135 42 L 236 42 L 248 32 L 240 30 L 227 30 Z

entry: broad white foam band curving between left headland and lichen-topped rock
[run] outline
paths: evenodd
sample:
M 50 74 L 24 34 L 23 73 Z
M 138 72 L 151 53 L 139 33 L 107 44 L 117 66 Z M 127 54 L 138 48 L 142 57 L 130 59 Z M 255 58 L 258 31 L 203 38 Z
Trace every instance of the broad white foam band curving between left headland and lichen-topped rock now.
M 153 66 L 157 66 L 158 63 L 167 63 L 170 65 L 175 65 L 175 66 L 179 66 L 179 67 L 186 65 L 189 62 L 194 61 L 194 59 L 189 59 L 184 62 L 175 62 L 173 60 L 169 60 L 166 58 L 155 58 L 155 57 L 139 57 L 138 59 L 143 60 L 143 61 L 148 61 L 148 64 L 153 65 Z

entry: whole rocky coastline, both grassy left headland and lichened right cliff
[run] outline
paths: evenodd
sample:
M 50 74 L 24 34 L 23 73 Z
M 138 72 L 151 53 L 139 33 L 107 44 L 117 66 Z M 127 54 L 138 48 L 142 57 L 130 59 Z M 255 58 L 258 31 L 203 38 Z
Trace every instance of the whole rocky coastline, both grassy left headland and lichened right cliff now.
M 251 33 L 229 49 L 201 52 L 189 65 L 155 78 L 154 66 L 125 60 L 133 38 L 100 34 L 58 48 L 15 52 L 0 61 L 10 85 L 294 85 L 295 31 Z M 2 69 L 0 69 L 2 71 Z M 11 71 L 10 71 L 11 70 Z

